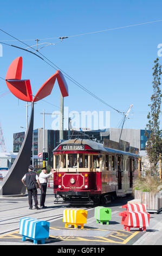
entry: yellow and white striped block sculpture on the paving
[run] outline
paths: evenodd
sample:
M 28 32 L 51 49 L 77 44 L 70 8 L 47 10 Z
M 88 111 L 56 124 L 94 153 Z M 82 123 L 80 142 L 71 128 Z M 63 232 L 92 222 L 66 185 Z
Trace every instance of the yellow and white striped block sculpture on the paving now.
M 83 229 L 84 224 L 87 223 L 87 211 L 76 209 L 64 210 L 63 222 L 65 222 L 66 228 L 68 228 L 68 225 L 72 225 L 72 228 L 77 228 L 77 226 L 80 225 L 81 229 Z

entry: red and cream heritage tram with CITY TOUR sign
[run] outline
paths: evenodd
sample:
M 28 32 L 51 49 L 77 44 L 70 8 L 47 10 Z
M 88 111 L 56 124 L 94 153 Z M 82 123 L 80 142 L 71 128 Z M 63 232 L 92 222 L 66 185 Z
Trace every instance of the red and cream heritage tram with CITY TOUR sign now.
M 54 194 L 58 203 L 106 203 L 109 197 L 131 193 L 139 175 L 138 154 L 106 148 L 89 139 L 64 141 L 53 154 Z

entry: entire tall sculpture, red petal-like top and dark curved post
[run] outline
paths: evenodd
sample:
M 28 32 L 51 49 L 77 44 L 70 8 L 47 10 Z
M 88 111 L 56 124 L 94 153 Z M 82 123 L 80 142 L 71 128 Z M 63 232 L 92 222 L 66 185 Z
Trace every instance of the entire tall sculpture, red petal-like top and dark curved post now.
M 59 70 L 43 84 L 34 97 L 34 100 L 30 80 L 22 80 L 21 75 L 22 57 L 18 57 L 9 66 L 5 81 L 10 92 L 18 97 L 18 99 L 31 102 L 31 115 L 20 151 L 0 186 L 0 194 L 2 195 L 25 194 L 26 187 L 23 186 L 21 179 L 27 172 L 28 166 L 30 165 L 31 148 L 33 143 L 34 102 L 50 95 L 56 78 L 59 83 L 62 96 L 68 96 L 67 83 Z

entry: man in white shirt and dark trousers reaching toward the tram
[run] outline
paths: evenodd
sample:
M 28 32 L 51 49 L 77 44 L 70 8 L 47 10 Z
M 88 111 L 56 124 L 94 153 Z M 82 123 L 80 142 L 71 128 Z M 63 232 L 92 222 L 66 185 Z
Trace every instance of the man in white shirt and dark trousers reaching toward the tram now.
M 51 172 L 47 174 L 47 167 L 41 168 L 42 172 L 40 173 L 39 176 L 39 181 L 41 185 L 41 198 L 40 198 L 40 208 L 45 209 L 47 206 L 44 205 L 45 200 L 46 200 L 46 191 L 47 191 L 47 182 L 48 178 L 54 173 L 54 169 L 51 169 Z

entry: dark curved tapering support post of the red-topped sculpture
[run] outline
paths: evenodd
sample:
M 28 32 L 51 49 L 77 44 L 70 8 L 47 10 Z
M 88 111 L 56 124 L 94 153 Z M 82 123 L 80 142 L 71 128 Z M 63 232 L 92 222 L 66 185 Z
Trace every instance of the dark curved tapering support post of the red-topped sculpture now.
M 26 187 L 23 185 L 21 180 L 23 175 L 28 172 L 28 167 L 30 165 L 31 147 L 33 143 L 33 123 L 34 102 L 31 102 L 31 115 L 28 130 L 25 133 L 20 151 L 0 186 L 0 194 L 2 196 L 25 194 Z

